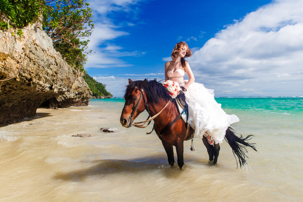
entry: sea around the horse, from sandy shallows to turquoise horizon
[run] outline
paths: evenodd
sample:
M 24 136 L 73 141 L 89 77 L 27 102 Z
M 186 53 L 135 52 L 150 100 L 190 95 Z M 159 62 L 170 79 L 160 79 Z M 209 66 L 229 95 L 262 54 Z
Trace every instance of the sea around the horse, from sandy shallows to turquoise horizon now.
M 0 128 L 0 200 L 302 200 L 303 98 L 216 100 L 240 118 L 237 132 L 255 135 L 258 152 L 248 149 L 241 169 L 226 142 L 218 164 L 208 164 L 200 139 L 194 152 L 185 142 L 182 170 L 170 167 L 155 132 L 145 134 L 151 126 L 121 126 L 122 99 L 94 99 L 87 107 L 38 109 L 35 118 Z M 92 137 L 72 137 L 83 133 Z

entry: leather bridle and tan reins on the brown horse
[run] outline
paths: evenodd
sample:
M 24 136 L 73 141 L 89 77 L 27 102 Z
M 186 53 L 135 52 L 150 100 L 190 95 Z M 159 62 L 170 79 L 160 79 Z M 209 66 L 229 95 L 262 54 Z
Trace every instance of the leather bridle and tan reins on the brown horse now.
M 143 93 L 144 90 L 143 90 L 143 88 L 139 88 L 138 86 L 135 86 L 135 88 L 138 88 L 138 89 L 140 90 L 141 94 L 140 94 L 140 98 L 139 98 L 139 100 L 138 100 L 138 103 L 136 104 L 136 106 L 135 106 L 135 108 L 133 109 L 132 114 L 129 116 L 129 118 L 131 119 L 132 125 L 133 125 L 133 126 L 139 127 L 139 128 L 145 128 L 145 127 L 147 127 L 147 126 L 150 124 L 151 120 L 153 120 L 154 118 L 156 118 L 156 117 L 157 117 L 157 116 L 158 116 L 158 115 L 159 115 L 159 114 L 168 106 L 168 104 L 171 103 L 172 98 L 168 101 L 168 103 L 164 106 L 164 108 L 161 109 L 161 111 L 158 112 L 158 114 L 156 114 L 155 116 L 153 116 L 153 117 L 151 117 L 151 118 L 149 119 L 149 117 L 150 117 L 150 115 L 149 115 L 149 114 L 150 114 L 150 110 L 149 110 L 149 107 L 148 107 L 148 104 L 147 104 L 145 95 L 144 95 L 144 93 Z M 135 111 L 137 110 L 137 108 L 138 108 L 138 106 L 139 106 L 139 103 L 140 103 L 142 97 L 143 97 L 143 100 L 144 100 L 145 109 L 146 109 L 146 111 L 148 112 L 148 118 L 147 118 L 145 121 L 140 121 L 140 122 L 134 123 L 134 120 L 133 120 L 134 114 L 135 114 Z M 148 122 L 148 121 L 149 121 L 149 122 Z M 144 124 L 145 124 L 146 122 L 148 122 L 148 124 L 147 124 L 146 126 L 144 126 Z M 143 123 L 143 124 L 142 124 L 142 123 Z M 142 124 L 142 125 L 139 125 L 139 124 Z

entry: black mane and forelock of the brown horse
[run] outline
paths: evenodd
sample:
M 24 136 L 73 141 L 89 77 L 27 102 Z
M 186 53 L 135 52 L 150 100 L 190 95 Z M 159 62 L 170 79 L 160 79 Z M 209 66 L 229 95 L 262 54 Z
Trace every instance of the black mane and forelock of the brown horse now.
M 133 81 L 131 84 L 127 85 L 124 99 L 126 100 L 126 98 L 128 98 L 135 86 L 140 88 L 142 82 L 142 80 Z M 163 84 L 158 82 L 157 79 L 149 80 L 143 87 L 143 90 L 145 91 L 148 102 L 151 103 L 157 103 L 159 98 L 162 98 L 165 101 L 169 101 L 171 99 L 171 96 L 167 93 L 166 88 L 163 86 Z

